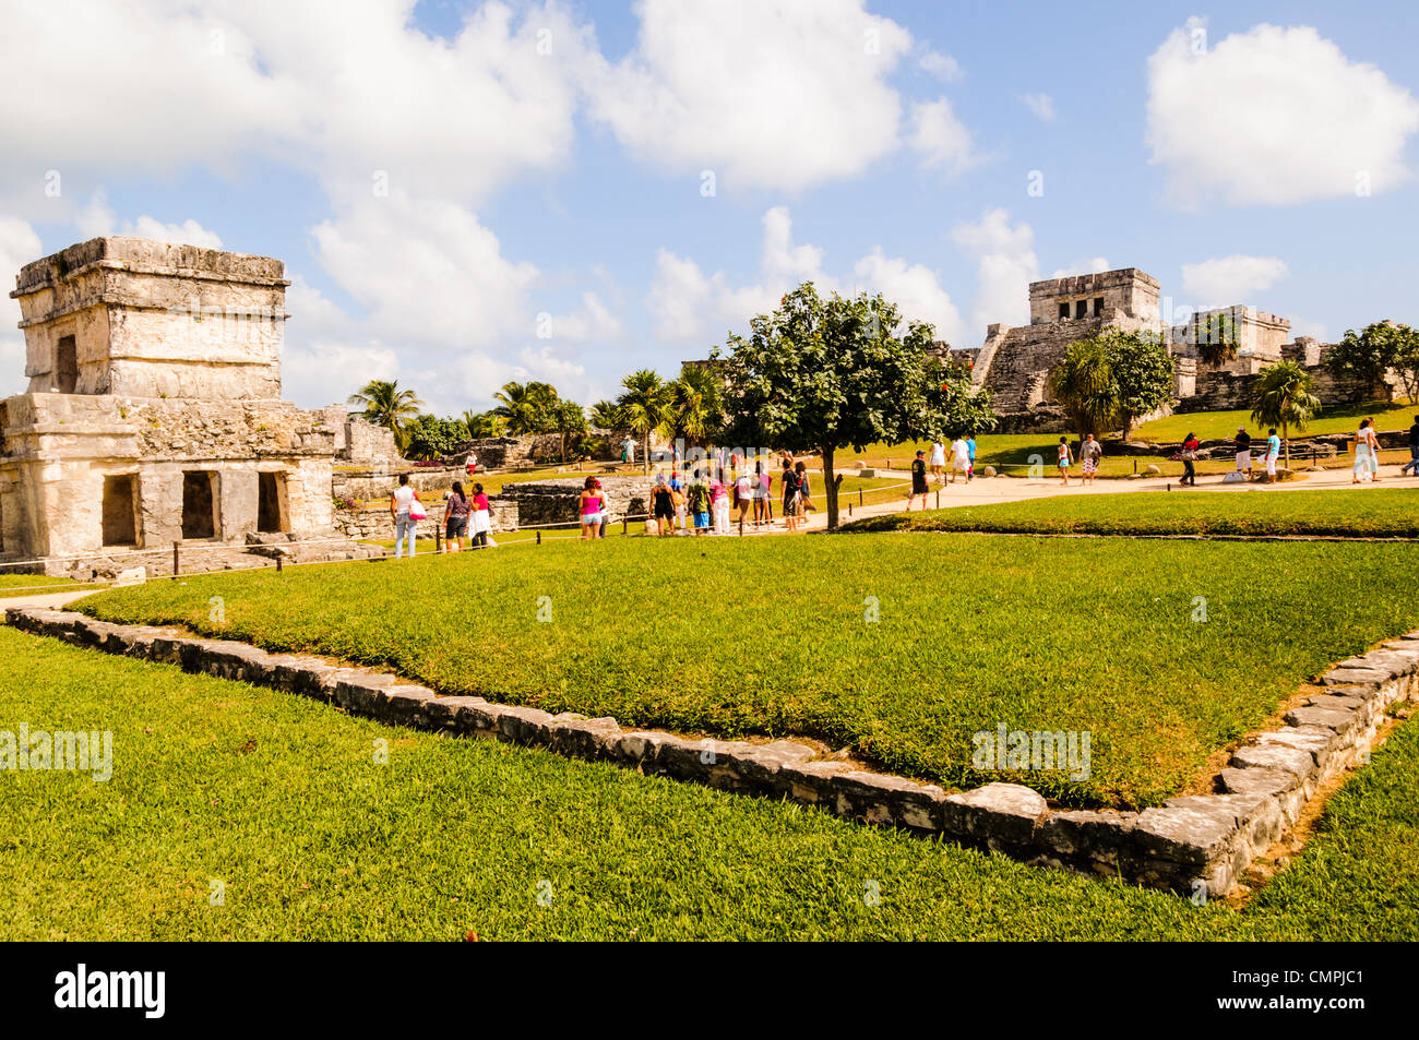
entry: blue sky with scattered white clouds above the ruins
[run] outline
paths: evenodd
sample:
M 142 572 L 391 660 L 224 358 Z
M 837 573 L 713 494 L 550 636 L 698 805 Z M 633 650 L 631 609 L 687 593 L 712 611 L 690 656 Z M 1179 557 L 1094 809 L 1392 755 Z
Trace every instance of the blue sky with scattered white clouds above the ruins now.
M 1419 323 L 1415 4 L 6 20 L 0 262 L 99 233 L 280 257 L 307 406 L 372 376 L 440 411 L 529 377 L 589 403 L 633 367 L 674 375 L 800 277 L 884 291 L 959 346 L 1025 321 L 1030 280 L 1105 262 L 1176 306 L 1247 302 L 1328 339 Z

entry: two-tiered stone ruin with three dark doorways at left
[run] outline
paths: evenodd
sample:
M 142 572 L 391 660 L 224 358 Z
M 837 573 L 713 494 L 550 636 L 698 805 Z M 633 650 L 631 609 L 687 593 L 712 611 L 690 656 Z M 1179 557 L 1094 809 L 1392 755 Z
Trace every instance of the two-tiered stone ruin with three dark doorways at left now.
M 0 403 L 0 563 L 165 573 L 173 543 L 332 538 L 336 430 L 281 400 L 288 284 L 280 260 L 125 237 L 27 264 L 10 295 L 30 385 Z

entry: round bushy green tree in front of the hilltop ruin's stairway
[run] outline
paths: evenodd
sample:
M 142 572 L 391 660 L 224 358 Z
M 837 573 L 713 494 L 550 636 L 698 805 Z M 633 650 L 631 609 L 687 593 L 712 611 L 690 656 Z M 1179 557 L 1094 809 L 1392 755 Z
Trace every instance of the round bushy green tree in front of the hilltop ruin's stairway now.
M 1050 392 L 1080 437 L 1121 428 L 1174 402 L 1174 359 L 1144 332 L 1104 329 L 1070 343 L 1050 373 Z

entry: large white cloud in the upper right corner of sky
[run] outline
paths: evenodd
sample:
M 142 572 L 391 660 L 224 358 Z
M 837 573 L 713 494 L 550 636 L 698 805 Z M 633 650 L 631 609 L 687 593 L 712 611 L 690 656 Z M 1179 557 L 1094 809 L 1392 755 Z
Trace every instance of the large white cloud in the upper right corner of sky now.
M 1148 146 L 1183 207 L 1291 204 L 1409 177 L 1419 102 L 1310 27 L 1256 26 L 1206 45 L 1193 18 L 1148 60 Z

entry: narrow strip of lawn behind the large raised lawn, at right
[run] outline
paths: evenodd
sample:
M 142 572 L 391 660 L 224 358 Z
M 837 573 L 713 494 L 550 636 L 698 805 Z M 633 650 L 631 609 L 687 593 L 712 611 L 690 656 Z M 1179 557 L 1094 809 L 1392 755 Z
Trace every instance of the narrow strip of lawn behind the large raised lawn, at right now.
M 1419 487 L 1061 495 L 871 516 L 846 529 L 1419 538 Z

